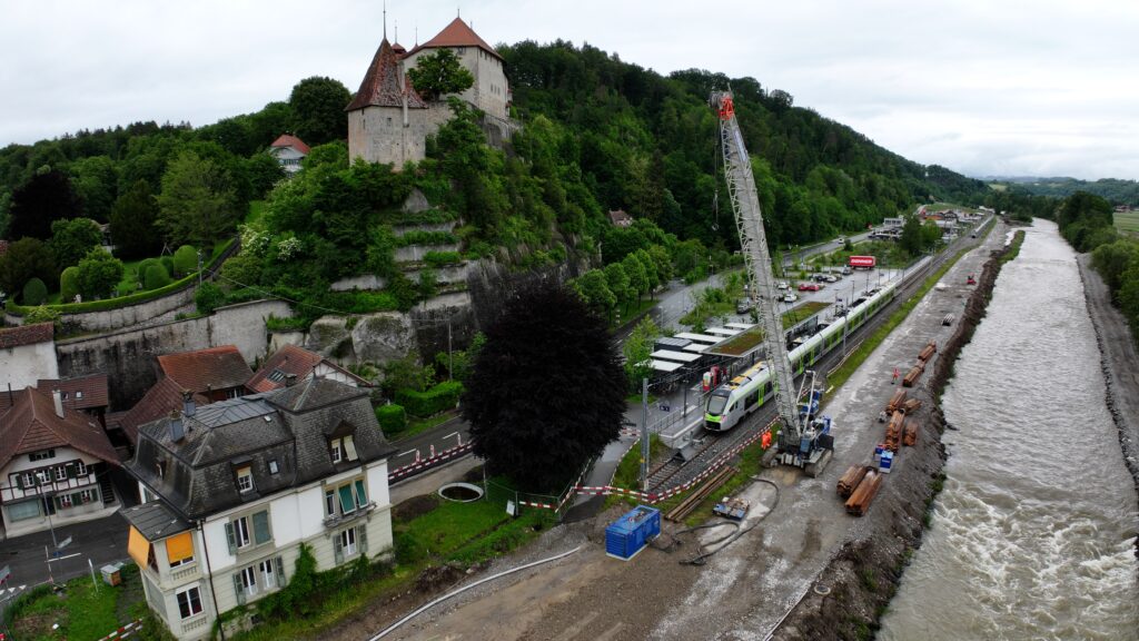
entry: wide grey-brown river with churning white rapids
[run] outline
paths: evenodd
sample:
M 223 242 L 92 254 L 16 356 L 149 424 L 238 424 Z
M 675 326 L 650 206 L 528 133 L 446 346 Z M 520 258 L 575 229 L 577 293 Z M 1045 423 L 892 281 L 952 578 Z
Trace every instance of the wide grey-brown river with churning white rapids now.
M 878 639 L 1139 639 L 1137 497 L 1075 254 L 1038 220 L 942 397 L 950 456 Z

